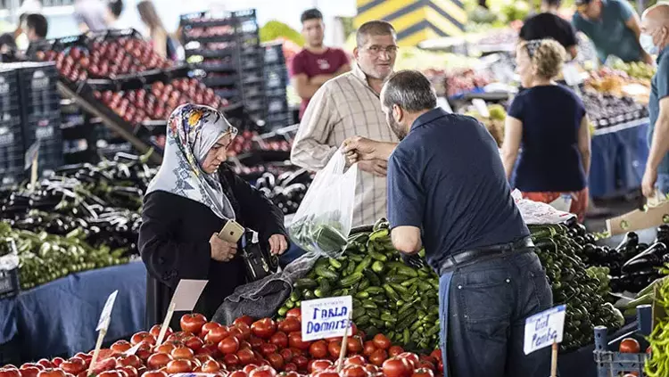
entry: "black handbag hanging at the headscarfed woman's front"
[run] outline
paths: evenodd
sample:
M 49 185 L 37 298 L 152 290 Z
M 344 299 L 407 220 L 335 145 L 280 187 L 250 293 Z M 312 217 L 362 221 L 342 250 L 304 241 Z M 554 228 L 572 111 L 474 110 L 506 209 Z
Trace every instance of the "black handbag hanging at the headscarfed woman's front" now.
M 246 282 L 252 283 L 276 274 L 278 271 L 278 258 L 269 252 L 268 242 L 259 242 L 258 234 L 252 230 L 246 230 L 242 236 L 242 260 L 246 267 Z

